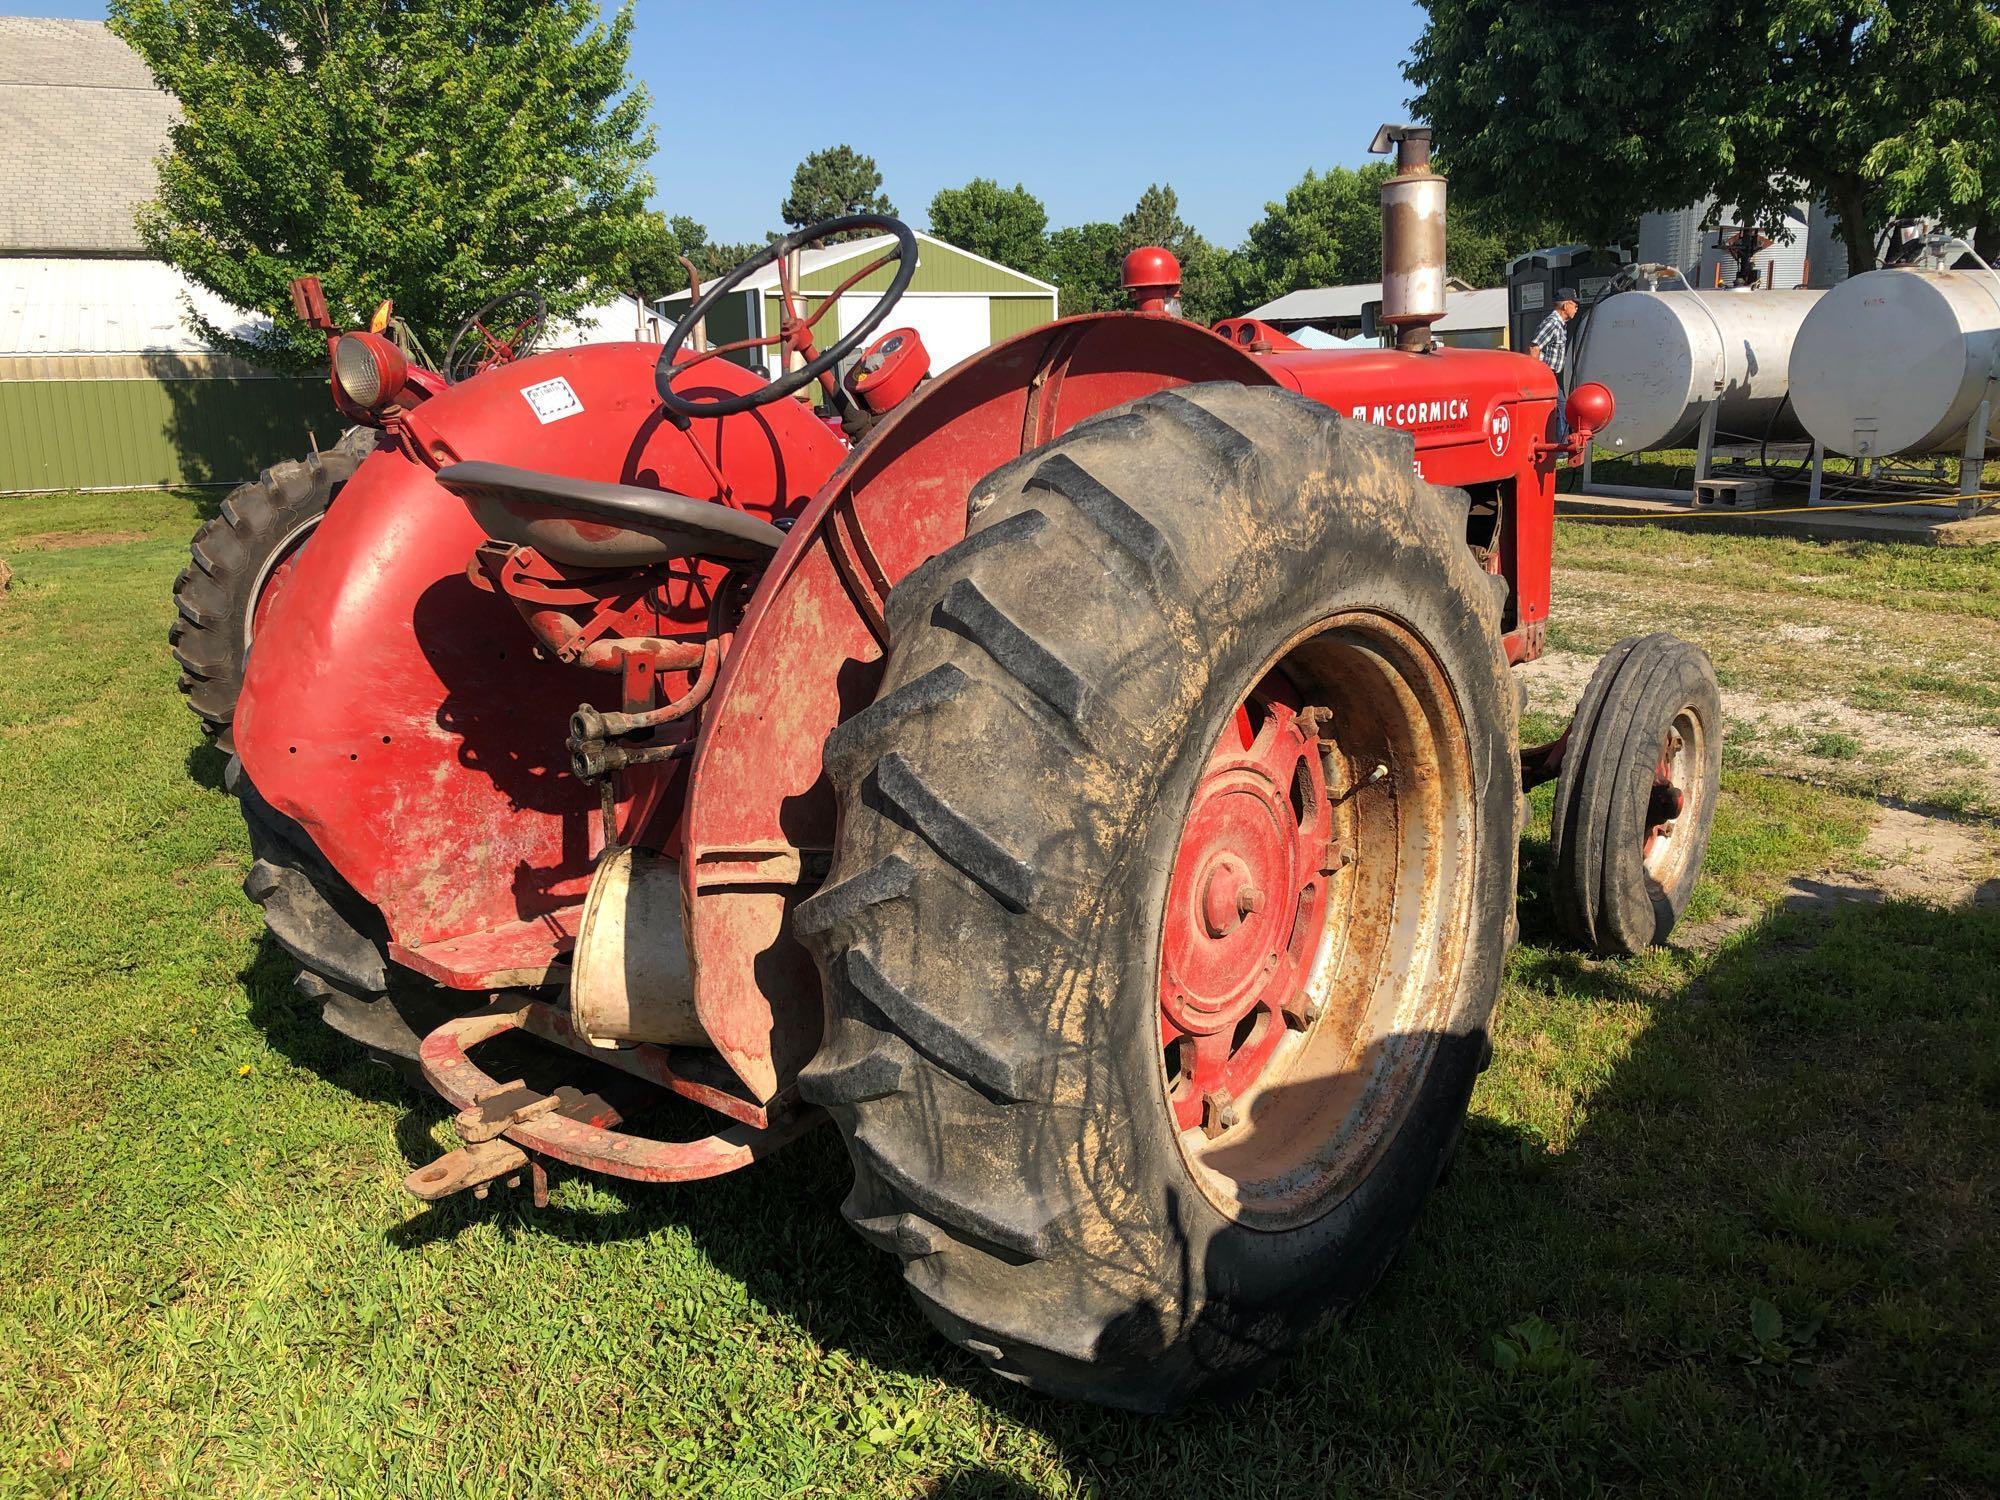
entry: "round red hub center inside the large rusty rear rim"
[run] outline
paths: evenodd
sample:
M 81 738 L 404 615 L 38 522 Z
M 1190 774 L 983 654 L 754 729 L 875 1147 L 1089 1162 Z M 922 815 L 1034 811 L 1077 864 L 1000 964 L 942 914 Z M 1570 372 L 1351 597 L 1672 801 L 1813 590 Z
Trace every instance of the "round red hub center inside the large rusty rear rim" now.
M 1330 836 L 1318 714 L 1270 676 L 1208 758 L 1166 892 L 1160 1042 L 1182 1130 L 1236 1124 L 1286 1026 L 1308 1024 Z

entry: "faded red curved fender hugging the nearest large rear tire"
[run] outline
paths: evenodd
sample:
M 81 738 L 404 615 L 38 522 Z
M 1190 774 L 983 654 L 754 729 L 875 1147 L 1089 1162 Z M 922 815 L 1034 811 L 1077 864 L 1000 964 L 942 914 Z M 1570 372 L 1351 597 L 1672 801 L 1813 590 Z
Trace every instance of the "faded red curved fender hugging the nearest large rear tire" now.
M 702 718 L 682 862 L 696 1012 L 758 1098 L 820 1036 L 818 976 L 788 916 L 832 852 L 820 752 L 874 700 L 888 590 L 966 534 L 976 480 L 1088 416 L 1200 380 L 1272 384 L 1250 354 L 1176 318 L 1036 328 L 924 386 L 792 528 Z

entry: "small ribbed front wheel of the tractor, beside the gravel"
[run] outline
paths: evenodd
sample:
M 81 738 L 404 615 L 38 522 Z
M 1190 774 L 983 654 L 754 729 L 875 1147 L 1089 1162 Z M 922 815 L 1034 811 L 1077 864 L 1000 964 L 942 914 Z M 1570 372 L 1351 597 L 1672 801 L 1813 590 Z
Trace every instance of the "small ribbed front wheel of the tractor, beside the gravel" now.
M 1700 646 L 1632 636 L 1576 706 L 1550 826 L 1556 918 L 1584 948 L 1666 942 L 1702 870 L 1722 776 L 1722 694 Z

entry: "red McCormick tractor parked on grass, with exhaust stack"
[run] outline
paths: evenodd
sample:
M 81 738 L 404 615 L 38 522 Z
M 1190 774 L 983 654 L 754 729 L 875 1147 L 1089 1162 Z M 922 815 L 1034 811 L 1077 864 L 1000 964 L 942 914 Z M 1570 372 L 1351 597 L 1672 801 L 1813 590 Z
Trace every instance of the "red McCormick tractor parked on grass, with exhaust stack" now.
M 1398 138 L 1394 348 L 1196 326 L 1140 250 L 1136 312 L 924 380 L 910 330 L 870 344 L 916 270 L 876 216 L 664 346 L 426 392 L 336 340 L 382 442 L 268 604 L 234 786 L 304 990 L 458 1110 L 418 1198 L 688 1182 L 830 1118 L 950 1340 L 1154 1410 L 1374 1284 L 1490 1056 L 1524 784 L 1560 778 L 1564 920 L 1628 950 L 1720 756 L 1668 636 L 1518 746 L 1556 462 L 1610 408 L 1558 440 L 1540 362 L 1432 342 L 1442 180 Z M 852 232 L 860 328 L 794 310 L 768 384 L 684 348 Z M 572 1082 L 482 1066 L 508 1034 Z M 632 1128 L 662 1096 L 722 1120 Z

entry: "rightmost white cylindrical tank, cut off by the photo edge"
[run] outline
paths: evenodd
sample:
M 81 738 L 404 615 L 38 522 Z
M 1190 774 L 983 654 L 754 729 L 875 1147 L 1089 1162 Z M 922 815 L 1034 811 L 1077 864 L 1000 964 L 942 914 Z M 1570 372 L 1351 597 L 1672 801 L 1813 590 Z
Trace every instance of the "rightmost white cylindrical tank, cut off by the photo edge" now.
M 1964 452 L 1988 392 L 1992 454 L 2000 390 L 2000 278 L 1894 266 L 1820 298 L 1792 346 L 1792 406 L 1828 452 L 1856 458 Z

